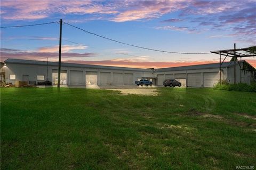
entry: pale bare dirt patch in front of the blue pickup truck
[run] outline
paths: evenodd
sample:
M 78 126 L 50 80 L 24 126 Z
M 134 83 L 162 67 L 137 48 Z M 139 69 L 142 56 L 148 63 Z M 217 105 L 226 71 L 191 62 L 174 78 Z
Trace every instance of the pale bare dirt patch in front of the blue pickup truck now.
M 127 95 L 127 94 L 139 94 L 139 95 L 158 95 L 158 92 L 154 88 L 127 88 L 127 89 L 109 89 L 109 90 L 115 90 L 120 91 L 121 94 Z

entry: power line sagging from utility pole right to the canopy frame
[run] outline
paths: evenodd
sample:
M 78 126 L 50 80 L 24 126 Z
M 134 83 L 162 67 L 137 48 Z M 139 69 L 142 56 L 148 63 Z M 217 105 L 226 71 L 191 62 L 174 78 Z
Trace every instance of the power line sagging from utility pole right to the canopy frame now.
M 127 43 L 123 43 L 123 42 L 119 42 L 119 41 L 116 41 L 115 39 L 111 39 L 111 38 L 107 38 L 107 37 L 104 37 L 104 36 L 101 36 L 101 35 L 98 35 L 98 34 L 95 34 L 95 33 L 91 33 L 90 31 L 86 31 L 82 28 L 79 28 L 79 27 L 76 27 L 76 26 L 73 26 L 67 22 L 64 22 L 66 23 L 67 25 L 71 26 L 71 27 L 74 27 L 74 28 L 77 28 L 79 30 L 82 30 L 84 31 L 85 33 L 89 33 L 89 34 L 92 34 L 92 35 L 95 35 L 95 36 L 98 36 L 98 37 L 101 37 L 101 38 L 105 38 L 105 39 L 108 39 L 109 41 L 113 41 L 113 42 L 116 42 L 116 43 L 121 43 L 121 44 L 125 44 L 125 45 L 129 45 L 129 46 L 133 46 L 133 47 L 137 47 L 137 48 L 142 48 L 142 49 L 145 49 L 145 50 L 151 50 L 151 51 L 158 51 L 158 52 L 164 52 L 164 53 L 175 53 L 175 54 L 211 54 L 211 53 L 186 53 L 186 52 L 172 52 L 172 51 L 163 51 L 163 50 L 156 50 L 156 49 L 153 49 L 153 48 L 146 48 L 146 47 L 141 47 L 141 46 L 137 46 L 137 45 L 132 45 L 132 44 L 127 44 Z

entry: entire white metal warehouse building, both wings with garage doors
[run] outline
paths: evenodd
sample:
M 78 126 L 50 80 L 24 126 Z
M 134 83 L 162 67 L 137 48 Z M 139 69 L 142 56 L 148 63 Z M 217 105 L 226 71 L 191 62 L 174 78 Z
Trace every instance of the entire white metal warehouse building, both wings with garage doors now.
M 163 85 L 164 79 L 177 79 L 182 86 L 212 87 L 220 79 L 229 83 L 250 84 L 256 79 L 256 69 L 246 61 L 200 64 L 194 66 L 171 67 L 161 69 L 139 69 L 126 67 L 97 66 L 90 64 L 61 63 L 61 85 L 135 85 L 135 80 L 147 78 L 154 85 Z M 58 82 L 58 62 L 7 59 L 1 65 L 1 79 L 6 83 L 15 80 L 32 84 L 52 81 Z

